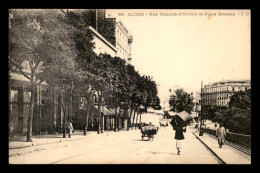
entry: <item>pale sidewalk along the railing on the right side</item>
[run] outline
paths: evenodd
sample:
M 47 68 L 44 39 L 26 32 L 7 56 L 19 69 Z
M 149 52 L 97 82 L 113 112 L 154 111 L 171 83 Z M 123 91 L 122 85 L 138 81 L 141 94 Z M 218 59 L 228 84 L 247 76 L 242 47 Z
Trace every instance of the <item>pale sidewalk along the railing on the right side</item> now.
M 228 145 L 223 145 L 222 148 L 219 148 L 217 139 L 207 133 L 204 133 L 203 136 L 199 136 L 199 133 L 196 132 L 193 134 L 203 141 L 226 164 L 251 164 L 251 155 Z

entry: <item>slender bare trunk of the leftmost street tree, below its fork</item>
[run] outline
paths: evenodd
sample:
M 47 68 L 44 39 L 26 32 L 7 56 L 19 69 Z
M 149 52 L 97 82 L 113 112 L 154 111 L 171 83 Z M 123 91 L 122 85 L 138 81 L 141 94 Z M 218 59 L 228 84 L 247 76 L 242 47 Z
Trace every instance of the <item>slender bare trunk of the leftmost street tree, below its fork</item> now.
M 32 142 L 32 119 L 33 119 L 35 86 L 34 86 L 34 84 L 32 84 L 31 86 L 32 87 L 31 87 L 29 117 L 28 117 L 28 121 L 27 121 L 27 139 L 26 139 L 26 142 Z

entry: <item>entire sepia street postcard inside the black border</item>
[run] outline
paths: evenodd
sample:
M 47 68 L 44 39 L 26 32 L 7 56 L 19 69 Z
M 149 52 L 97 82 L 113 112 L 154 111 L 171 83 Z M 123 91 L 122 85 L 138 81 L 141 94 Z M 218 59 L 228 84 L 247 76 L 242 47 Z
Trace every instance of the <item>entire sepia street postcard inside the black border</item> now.
M 8 9 L 8 163 L 251 164 L 250 9 Z

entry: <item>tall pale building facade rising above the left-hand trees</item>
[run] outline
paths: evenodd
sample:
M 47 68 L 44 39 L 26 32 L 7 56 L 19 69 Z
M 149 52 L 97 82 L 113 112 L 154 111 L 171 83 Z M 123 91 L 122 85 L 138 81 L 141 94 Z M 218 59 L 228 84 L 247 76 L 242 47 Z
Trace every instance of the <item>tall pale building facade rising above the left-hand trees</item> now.
M 129 33 L 127 28 L 121 21 L 116 22 L 116 56 L 125 59 L 127 63 L 131 64 L 131 45 L 133 36 Z

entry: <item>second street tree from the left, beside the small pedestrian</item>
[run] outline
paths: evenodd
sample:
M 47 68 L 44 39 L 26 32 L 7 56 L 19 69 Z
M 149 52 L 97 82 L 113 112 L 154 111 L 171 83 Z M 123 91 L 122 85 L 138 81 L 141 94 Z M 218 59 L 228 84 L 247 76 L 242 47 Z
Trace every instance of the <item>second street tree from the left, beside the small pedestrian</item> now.
M 41 80 L 52 87 L 58 88 L 63 110 L 63 137 L 66 137 L 66 119 L 72 117 L 72 95 L 77 87 L 79 73 L 76 70 L 76 45 L 71 36 L 75 33 L 74 26 L 67 24 L 64 14 L 46 16 L 45 27 L 48 31 L 46 41 L 49 47 L 48 61 L 43 63 Z

